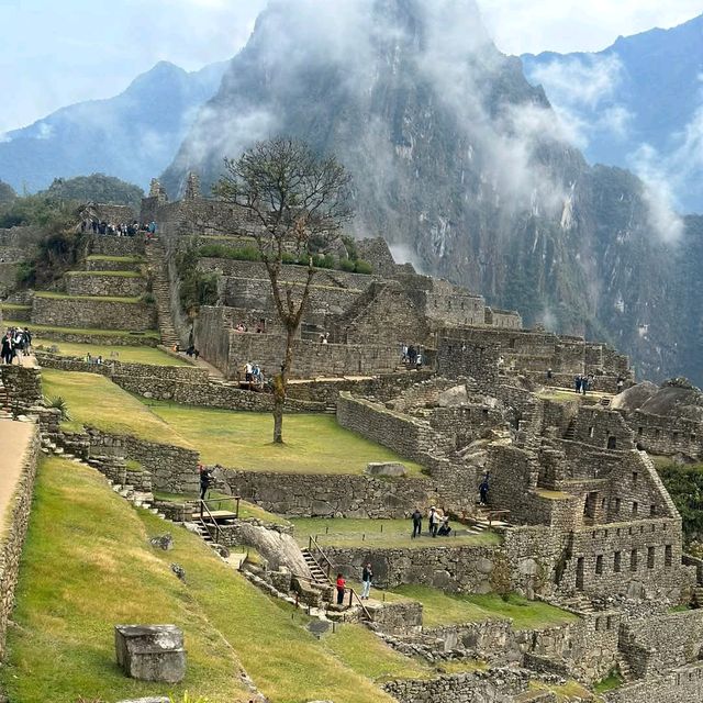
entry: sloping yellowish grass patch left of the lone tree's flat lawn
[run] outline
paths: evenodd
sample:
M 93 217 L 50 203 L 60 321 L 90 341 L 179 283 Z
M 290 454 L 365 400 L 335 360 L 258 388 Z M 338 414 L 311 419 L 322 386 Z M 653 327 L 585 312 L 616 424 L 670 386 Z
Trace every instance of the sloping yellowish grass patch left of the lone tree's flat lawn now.
M 68 404 L 69 429 L 85 425 L 118 435 L 189 447 L 163 420 L 136 398 L 104 376 L 44 369 L 42 386 L 47 398 L 62 397 Z

